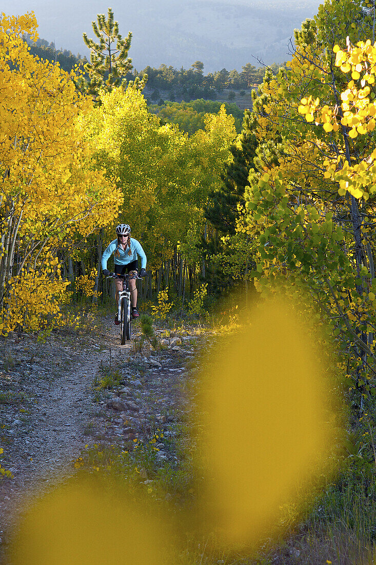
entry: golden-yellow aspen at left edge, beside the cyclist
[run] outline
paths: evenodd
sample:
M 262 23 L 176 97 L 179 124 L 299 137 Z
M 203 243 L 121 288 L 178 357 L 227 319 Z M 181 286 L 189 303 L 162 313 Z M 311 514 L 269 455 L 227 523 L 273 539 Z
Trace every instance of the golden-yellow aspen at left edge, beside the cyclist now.
M 12 329 L 22 318 L 17 287 L 26 282 L 30 292 L 33 285 L 41 290 L 54 282 L 55 294 L 33 293 L 29 309 L 37 311 L 38 301 L 44 301 L 45 312 L 52 305 L 50 314 L 57 314 L 63 294 L 58 291 L 57 251 L 69 248 L 77 234 L 85 237 L 108 224 L 121 202 L 121 195 L 104 171 L 92 166 L 84 141 L 83 118 L 93 103 L 77 92 L 74 71 L 64 72 L 58 63 L 30 54 L 22 35 L 29 33 L 36 40 L 36 28 L 33 12 L 19 17 L 3 14 L 0 18 L 3 331 Z M 61 285 L 63 289 L 65 283 L 61 281 Z M 25 293 L 25 301 L 30 292 Z M 36 319 L 40 318 L 37 315 Z M 32 329 L 36 329 L 36 319 Z

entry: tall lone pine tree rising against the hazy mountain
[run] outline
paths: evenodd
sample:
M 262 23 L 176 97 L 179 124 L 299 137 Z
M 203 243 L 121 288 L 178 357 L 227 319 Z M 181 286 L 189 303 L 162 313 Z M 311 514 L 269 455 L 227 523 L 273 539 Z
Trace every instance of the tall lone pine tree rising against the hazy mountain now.
M 98 95 L 101 88 L 111 90 L 113 86 L 120 86 L 133 68 L 132 59 L 128 57 L 132 33 L 129 32 L 125 39 L 121 37 L 119 24 L 113 20 L 112 8 L 108 8 L 107 19 L 104 14 L 98 14 L 97 21 L 92 21 L 91 25 L 98 43 L 83 34 L 85 44 L 91 49 L 90 63 L 86 66 L 90 77 L 88 92 L 94 95 Z

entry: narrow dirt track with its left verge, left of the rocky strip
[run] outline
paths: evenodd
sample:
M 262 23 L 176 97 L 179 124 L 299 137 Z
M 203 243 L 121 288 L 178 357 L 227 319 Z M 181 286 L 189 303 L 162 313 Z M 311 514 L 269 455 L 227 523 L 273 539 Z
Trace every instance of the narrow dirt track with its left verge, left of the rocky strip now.
M 100 364 L 112 354 L 126 355 L 130 345 L 114 346 L 119 336 L 110 325 L 102 337 L 80 344 L 53 338 L 37 344 L 16 336 L 3 347 L 7 371 L 0 386 L 8 398 L 0 404 L 4 458 L 2 467 L 14 479 L 0 480 L 0 537 L 7 543 L 21 507 L 34 491 L 40 492 L 74 470 L 74 460 L 85 442 L 85 423 L 93 412 L 92 385 Z M 25 355 L 26 354 L 26 355 Z M 3 382 L 5 380 L 5 383 Z M 8 383 L 7 383 L 8 381 Z M 16 389 L 16 390 L 14 390 Z M 21 398 L 20 389 L 24 390 Z M 22 407 L 21 407 L 22 406 Z

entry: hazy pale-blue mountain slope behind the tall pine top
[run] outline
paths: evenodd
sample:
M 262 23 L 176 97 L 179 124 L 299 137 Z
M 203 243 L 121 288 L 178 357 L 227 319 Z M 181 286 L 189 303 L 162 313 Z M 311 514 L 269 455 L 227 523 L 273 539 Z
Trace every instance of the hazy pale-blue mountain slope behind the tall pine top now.
M 39 0 L 3 0 L 2 11 L 21 14 L 34 9 L 39 33 L 57 48 L 89 55 L 82 32 L 93 37 L 91 21 L 107 12 L 102 0 L 55 3 Z M 129 55 L 134 67 L 159 67 L 161 63 L 189 68 L 195 60 L 204 72 L 241 68 L 247 62 L 266 64 L 288 60 L 288 44 L 301 21 L 312 17 L 319 0 L 111 0 L 120 33 L 132 31 Z M 74 14 L 74 17 L 72 17 Z

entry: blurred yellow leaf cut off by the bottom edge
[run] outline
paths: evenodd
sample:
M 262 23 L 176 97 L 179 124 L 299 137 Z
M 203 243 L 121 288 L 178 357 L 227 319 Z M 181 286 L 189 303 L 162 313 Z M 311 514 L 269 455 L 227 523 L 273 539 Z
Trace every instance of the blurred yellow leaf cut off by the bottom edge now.
M 41 498 L 21 525 L 17 565 L 163 565 L 172 544 L 167 519 L 119 485 L 116 496 L 89 482 Z

